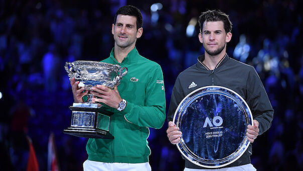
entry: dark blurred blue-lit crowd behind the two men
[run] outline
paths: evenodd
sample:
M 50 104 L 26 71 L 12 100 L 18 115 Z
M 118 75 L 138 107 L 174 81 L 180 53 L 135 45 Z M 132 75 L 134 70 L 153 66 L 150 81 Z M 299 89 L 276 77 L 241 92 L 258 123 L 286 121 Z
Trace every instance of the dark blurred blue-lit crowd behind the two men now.
M 0 165 L 25 170 L 32 138 L 40 170 L 54 133 L 61 170 L 82 170 L 87 139 L 63 134 L 73 98 L 65 62 L 100 61 L 114 46 L 115 12 L 134 5 L 143 15 L 142 56 L 163 69 L 167 109 L 174 81 L 204 52 L 197 17 L 220 9 L 233 23 L 227 53 L 257 70 L 275 110 L 271 128 L 253 143 L 258 170 L 303 170 L 303 36 L 299 0 L 5 1 L 0 0 Z M 2 98 L 1 98 L 2 97 Z M 153 170 L 182 170 L 165 130 L 150 129 Z

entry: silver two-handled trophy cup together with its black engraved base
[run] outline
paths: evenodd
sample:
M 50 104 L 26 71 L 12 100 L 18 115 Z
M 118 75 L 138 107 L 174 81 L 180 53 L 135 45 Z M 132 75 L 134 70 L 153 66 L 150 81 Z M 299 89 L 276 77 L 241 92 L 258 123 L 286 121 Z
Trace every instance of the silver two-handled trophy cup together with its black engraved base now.
M 117 64 L 84 60 L 66 62 L 64 68 L 69 79 L 74 77 L 79 81 L 78 87 L 84 87 L 88 91 L 97 84 L 114 89 L 128 72 L 127 67 L 120 67 Z M 107 111 L 106 107 L 98 107 L 97 104 L 91 103 L 91 98 L 92 95 L 88 93 L 85 103 L 73 103 L 73 106 L 69 107 L 72 111 L 71 123 L 63 132 L 85 138 L 113 139 L 109 132 L 113 113 Z

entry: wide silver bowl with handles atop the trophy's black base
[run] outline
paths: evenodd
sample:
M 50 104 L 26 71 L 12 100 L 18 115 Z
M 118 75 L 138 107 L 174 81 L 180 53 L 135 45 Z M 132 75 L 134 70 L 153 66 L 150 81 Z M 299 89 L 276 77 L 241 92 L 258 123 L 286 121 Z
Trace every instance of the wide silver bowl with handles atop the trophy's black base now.
M 98 61 L 76 60 L 66 62 L 64 66 L 69 79 L 72 77 L 79 81 L 78 87 L 90 90 L 91 87 L 100 84 L 114 89 L 120 80 L 127 74 L 127 67 Z M 124 72 L 122 72 L 125 70 Z

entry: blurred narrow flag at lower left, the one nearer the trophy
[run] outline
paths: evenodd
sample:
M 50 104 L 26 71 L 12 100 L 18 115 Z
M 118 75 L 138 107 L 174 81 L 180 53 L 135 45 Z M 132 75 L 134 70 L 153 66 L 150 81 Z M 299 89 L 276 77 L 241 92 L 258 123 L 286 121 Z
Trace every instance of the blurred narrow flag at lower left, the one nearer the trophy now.
M 48 171 L 59 171 L 57 151 L 55 145 L 54 134 L 51 133 L 48 139 L 48 156 L 47 156 L 47 170 Z

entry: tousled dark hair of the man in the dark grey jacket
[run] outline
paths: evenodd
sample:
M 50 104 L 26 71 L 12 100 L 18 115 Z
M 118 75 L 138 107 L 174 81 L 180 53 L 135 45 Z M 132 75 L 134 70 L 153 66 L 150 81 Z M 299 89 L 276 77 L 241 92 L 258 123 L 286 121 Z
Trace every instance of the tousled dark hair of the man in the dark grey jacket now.
M 233 28 L 232 22 L 229 20 L 227 14 L 221 12 L 220 10 L 209 10 L 201 13 L 198 22 L 200 26 L 200 31 L 202 33 L 204 22 L 215 22 L 222 21 L 224 23 L 224 30 L 226 33 L 231 32 Z

